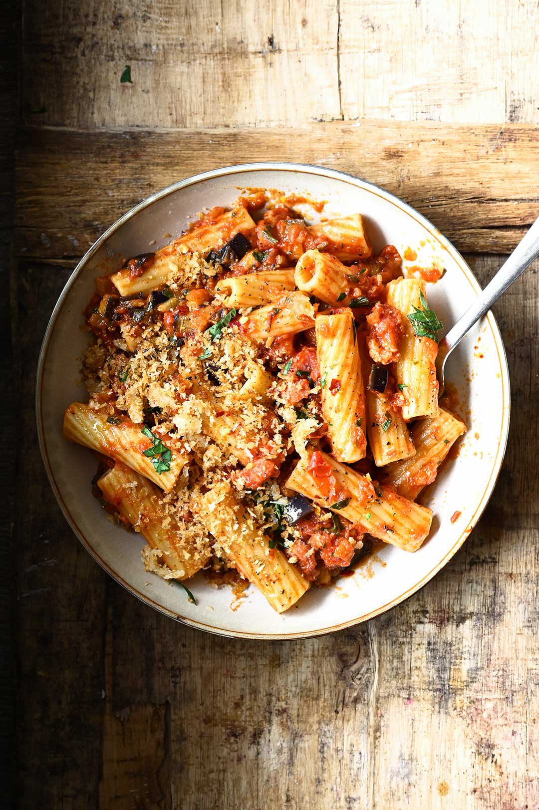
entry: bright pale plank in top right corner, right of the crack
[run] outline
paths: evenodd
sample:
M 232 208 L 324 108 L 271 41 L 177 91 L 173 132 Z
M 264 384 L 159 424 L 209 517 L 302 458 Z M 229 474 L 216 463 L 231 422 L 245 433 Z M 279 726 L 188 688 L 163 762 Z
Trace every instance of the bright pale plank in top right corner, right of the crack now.
M 344 120 L 537 124 L 538 25 L 533 0 L 341 0 Z

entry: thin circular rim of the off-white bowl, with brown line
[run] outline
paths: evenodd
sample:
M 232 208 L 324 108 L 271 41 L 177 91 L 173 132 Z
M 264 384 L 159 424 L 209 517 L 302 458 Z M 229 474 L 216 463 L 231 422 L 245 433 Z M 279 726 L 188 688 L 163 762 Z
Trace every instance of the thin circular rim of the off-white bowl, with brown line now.
M 507 448 L 507 437 L 509 432 L 509 420 L 510 420 L 510 412 L 511 412 L 511 390 L 510 390 L 510 380 L 509 380 L 509 369 L 507 366 L 507 356 L 505 352 L 505 347 L 503 346 L 502 336 L 500 334 L 500 330 L 498 328 L 498 324 L 496 319 L 494 318 L 494 314 L 489 310 L 486 313 L 486 320 L 489 322 L 490 329 L 492 330 L 492 334 L 494 335 L 494 344 L 496 350 L 498 352 L 498 360 L 501 369 L 501 377 L 502 377 L 502 428 L 501 433 L 498 440 L 498 449 L 496 452 L 496 456 L 494 458 L 494 463 L 492 467 L 492 471 L 490 472 L 489 480 L 486 484 L 485 492 L 479 501 L 477 508 L 473 513 L 473 517 L 468 522 L 467 527 L 462 531 L 456 540 L 455 544 L 451 546 L 449 551 L 443 556 L 443 559 L 438 562 L 437 565 L 434 565 L 434 568 L 431 569 L 424 577 L 421 578 L 419 582 L 415 585 L 411 586 L 408 590 L 405 590 L 404 593 L 394 597 L 386 604 L 382 605 L 379 608 L 375 608 L 373 611 L 363 613 L 361 616 L 357 616 L 356 618 L 347 620 L 345 622 L 341 622 L 339 625 L 332 625 L 330 627 L 323 627 L 320 629 L 314 630 L 305 630 L 300 632 L 293 632 L 293 633 L 248 633 L 245 631 L 237 631 L 237 630 L 225 630 L 219 627 L 215 627 L 214 625 L 208 625 L 205 622 L 193 620 L 186 616 L 182 616 L 178 612 L 174 612 L 169 610 L 169 608 L 165 608 L 160 603 L 157 603 L 154 599 L 148 597 L 148 595 L 143 594 L 136 590 L 136 588 L 130 585 L 126 580 L 124 580 L 120 573 L 114 571 L 108 563 L 99 556 L 99 554 L 92 548 L 90 541 L 83 535 L 83 532 L 79 529 L 75 519 L 72 517 L 69 508 L 67 507 L 66 503 L 63 501 L 62 494 L 58 488 L 58 484 L 54 478 L 53 468 L 49 461 L 49 456 L 46 449 L 45 443 L 45 430 L 43 425 L 43 415 L 42 415 L 42 385 L 43 385 L 43 377 L 44 377 L 44 370 L 45 370 L 45 361 L 47 358 L 47 352 L 49 350 L 49 343 L 50 339 L 53 334 L 54 326 L 58 319 L 58 315 L 60 314 L 62 307 L 66 301 L 66 297 L 71 291 L 71 288 L 75 284 L 76 280 L 78 279 L 79 275 L 82 273 L 84 267 L 87 265 L 92 255 L 96 253 L 96 250 L 103 245 L 107 239 L 121 228 L 123 224 L 127 221 L 132 219 L 139 211 L 143 211 L 144 208 L 151 206 L 153 203 L 156 203 L 157 200 L 160 200 L 164 197 L 167 197 L 169 194 L 173 194 L 174 192 L 184 189 L 189 185 L 195 185 L 200 182 L 211 180 L 214 177 L 223 177 L 229 174 L 247 174 L 252 173 L 255 171 L 280 171 L 280 172 L 293 172 L 293 173 L 302 173 L 302 174 L 313 174 L 319 175 L 321 177 L 328 177 L 330 179 L 339 180 L 348 182 L 350 185 L 355 185 L 358 188 L 363 188 L 369 190 L 371 193 L 376 194 L 379 197 L 384 198 L 387 200 L 388 203 L 395 205 L 397 208 L 400 208 L 401 211 L 408 214 L 416 220 L 417 223 L 423 225 L 424 228 L 430 233 L 432 237 L 443 247 L 446 249 L 447 252 L 451 255 L 451 258 L 456 261 L 456 263 L 460 266 L 460 270 L 463 271 L 464 275 L 468 279 L 469 283 L 471 284 L 473 290 L 478 294 L 481 292 L 481 287 L 477 282 L 473 271 L 468 266 L 468 263 L 464 260 L 463 256 L 460 252 L 456 249 L 456 247 L 443 235 L 442 232 L 438 230 L 430 220 L 427 220 L 425 216 L 419 213 L 413 206 L 409 205 L 409 203 L 405 203 L 404 200 L 401 200 L 399 197 L 396 197 L 395 194 L 392 194 L 390 191 L 387 191 L 380 187 L 379 185 L 375 185 L 370 181 L 366 181 L 361 177 L 356 177 L 353 174 L 347 172 L 341 172 L 338 169 L 334 168 L 326 168 L 323 166 L 318 166 L 315 164 L 302 164 L 302 163 L 287 163 L 284 161 L 259 161 L 256 163 L 246 163 L 246 164 L 236 164 L 232 166 L 224 166 L 222 168 L 210 169 L 207 172 L 202 172 L 199 174 L 191 175 L 190 177 L 186 177 L 183 180 L 177 181 L 172 185 L 167 185 L 164 189 L 154 192 L 154 194 L 150 194 L 149 197 L 144 198 L 140 203 L 137 203 L 134 207 L 130 208 L 129 211 L 126 211 L 121 217 L 118 218 L 109 228 L 105 229 L 105 232 L 101 234 L 101 237 L 98 237 L 93 245 L 86 251 L 83 257 L 79 260 L 77 265 L 75 266 L 74 271 L 71 273 L 69 279 L 67 279 L 60 296 L 58 297 L 58 301 L 56 305 L 54 305 L 53 312 L 50 315 L 49 323 L 45 330 L 45 334 L 43 336 L 43 341 L 41 343 L 41 350 L 39 354 L 39 359 L 37 362 L 37 369 L 36 369 L 36 428 L 37 428 L 37 440 L 39 444 L 39 448 L 41 451 L 41 458 L 45 465 L 45 471 L 47 473 L 47 477 L 49 478 L 49 484 L 53 490 L 54 497 L 58 502 L 60 509 L 62 510 L 62 514 L 64 518 L 66 518 L 67 523 L 71 527 L 71 531 L 74 532 L 76 537 L 79 539 L 80 543 L 86 549 L 86 551 L 93 557 L 93 559 L 101 565 L 101 568 L 105 569 L 109 575 L 116 580 L 120 585 L 126 588 L 130 592 L 130 594 L 135 595 L 138 599 L 142 602 L 150 605 L 152 608 L 155 608 L 161 613 L 164 613 L 165 616 L 169 616 L 170 618 L 181 622 L 184 625 L 189 627 L 204 630 L 207 633 L 214 633 L 219 636 L 223 637 L 236 637 L 236 638 L 248 638 L 248 639 L 257 639 L 260 641 L 284 641 L 289 639 L 297 639 L 297 638 L 310 638 L 316 636 L 323 636 L 327 633 L 336 633 L 339 630 L 347 629 L 353 627 L 355 625 L 361 624 L 361 622 L 369 621 L 373 619 L 374 616 L 380 616 L 382 613 L 391 610 L 391 608 L 395 608 L 396 605 L 404 602 L 405 599 L 409 599 L 417 590 L 420 590 L 423 586 L 426 585 L 427 582 L 430 580 L 441 570 L 447 562 L 451 560 L 451 557 L 455 556 L 456 552 L 459 548 L 464 544 L 464 540 L 468 538 L 468 535 L 473 531 L 473 528 L 477 525 L 477 521 L 481 518 L 481 514 L 483 514 L 486 505 L 490 501 L 490 497 L 494 490 L 494 486 L 496 481 L 498 480 L 498 475 L 500 473 L 503 458 L 505 455 L 505 451 Z

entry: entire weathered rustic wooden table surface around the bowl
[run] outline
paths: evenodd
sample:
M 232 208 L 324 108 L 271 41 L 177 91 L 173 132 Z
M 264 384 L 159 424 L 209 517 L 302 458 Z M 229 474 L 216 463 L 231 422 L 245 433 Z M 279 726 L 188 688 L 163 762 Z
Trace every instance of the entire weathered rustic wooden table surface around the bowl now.
M 539 214 L 536 0 L 22 6 L 18 101 L 2 86 L 17 126 L 2 234 L 20 391 L 3 445 L 18 471 L 20 807 L 537 808 L 537 264 L 495 308 L 513 410 L 484 517 L 419 593 L 342 633 L 227 640 L 139 603 L 64 522 L 33 416 L 41 337 L 77 259 L 203 169 L 278 158 L 366 177 L 485 284 Z M 2 124 L 2 172 L 14 132 Z

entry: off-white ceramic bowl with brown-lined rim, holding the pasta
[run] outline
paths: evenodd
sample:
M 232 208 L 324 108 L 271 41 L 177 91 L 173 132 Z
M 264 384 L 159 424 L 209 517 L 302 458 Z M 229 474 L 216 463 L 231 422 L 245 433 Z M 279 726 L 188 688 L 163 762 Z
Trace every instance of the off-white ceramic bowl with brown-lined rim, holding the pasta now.
M 392 608 L 413 594 L 451 559 L 481 516 L 500 470 L 509 424 L 509 377 L 502 339 L 492 314 L 473 329 L 451 356 L 447 380 L 455 383 L 460 413 L 468 425 L 456 458 L 449 460 L 422 502 L 434 510 L 430 539 L 415 554 L 386 546 L 351 577 L 328 589 L 313 588 L 292 609 L 278 615 L 254 587 L 236 611 L 228 587 L 218 590 L 198 575 L 190 585 L 198 604 L 184 591 L 147 573 L 143 539 L 107 519 L 92 497 L 96 471 L 92 453 L 62 439 L 68 403 L 86 399 L 79 382 L 80 356 L 88 333 L 82 310 L 96 275 L 112 270 L 113 257 L 148 252 L 178 235 L 198 211 L 227 206 L 244 187 L 277 188 L 327 200 L 324 215 L 360 211 L 375 249 L 392 244 L 417 250 L 418 264 L 442 262 L 447 272 L 429 285 L 429 302 L 446 326 L 468 308 L 479 291 L 464 259 L 425 217 L 400 199 L 366 181 L 327 168 L 301 164 L 246 164 L 199 174 L 169 186 L 122 216 L 79 262 L 54 308 L 37 373 L 37 425 L 45 467 L 58 503 L 88 552 L 131 593 L 187 625 L 229 636 L 290 638 L 328 633 Z M 165 237 L 165 234 L 167 236 Z M 460 518 L 451 516 L 460 511 Z

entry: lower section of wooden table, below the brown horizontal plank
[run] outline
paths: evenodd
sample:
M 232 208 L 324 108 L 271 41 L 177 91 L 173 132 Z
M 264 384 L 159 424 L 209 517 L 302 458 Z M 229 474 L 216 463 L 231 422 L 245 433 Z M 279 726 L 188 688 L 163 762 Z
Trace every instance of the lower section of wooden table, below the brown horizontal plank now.
M 483 284 L 500 261 L 467 258 Z M 64 279 L 21 273 L 23 368 Z M 323 638 L 211 637 L 109 581 L 53 502 L 29 404 L 21 806 L 263 810 L 271 792 L 287 810 L 536 807 L 538 300 L 536 262 L 496 306 L 514 409 L 481 522 L 407 602 Z

